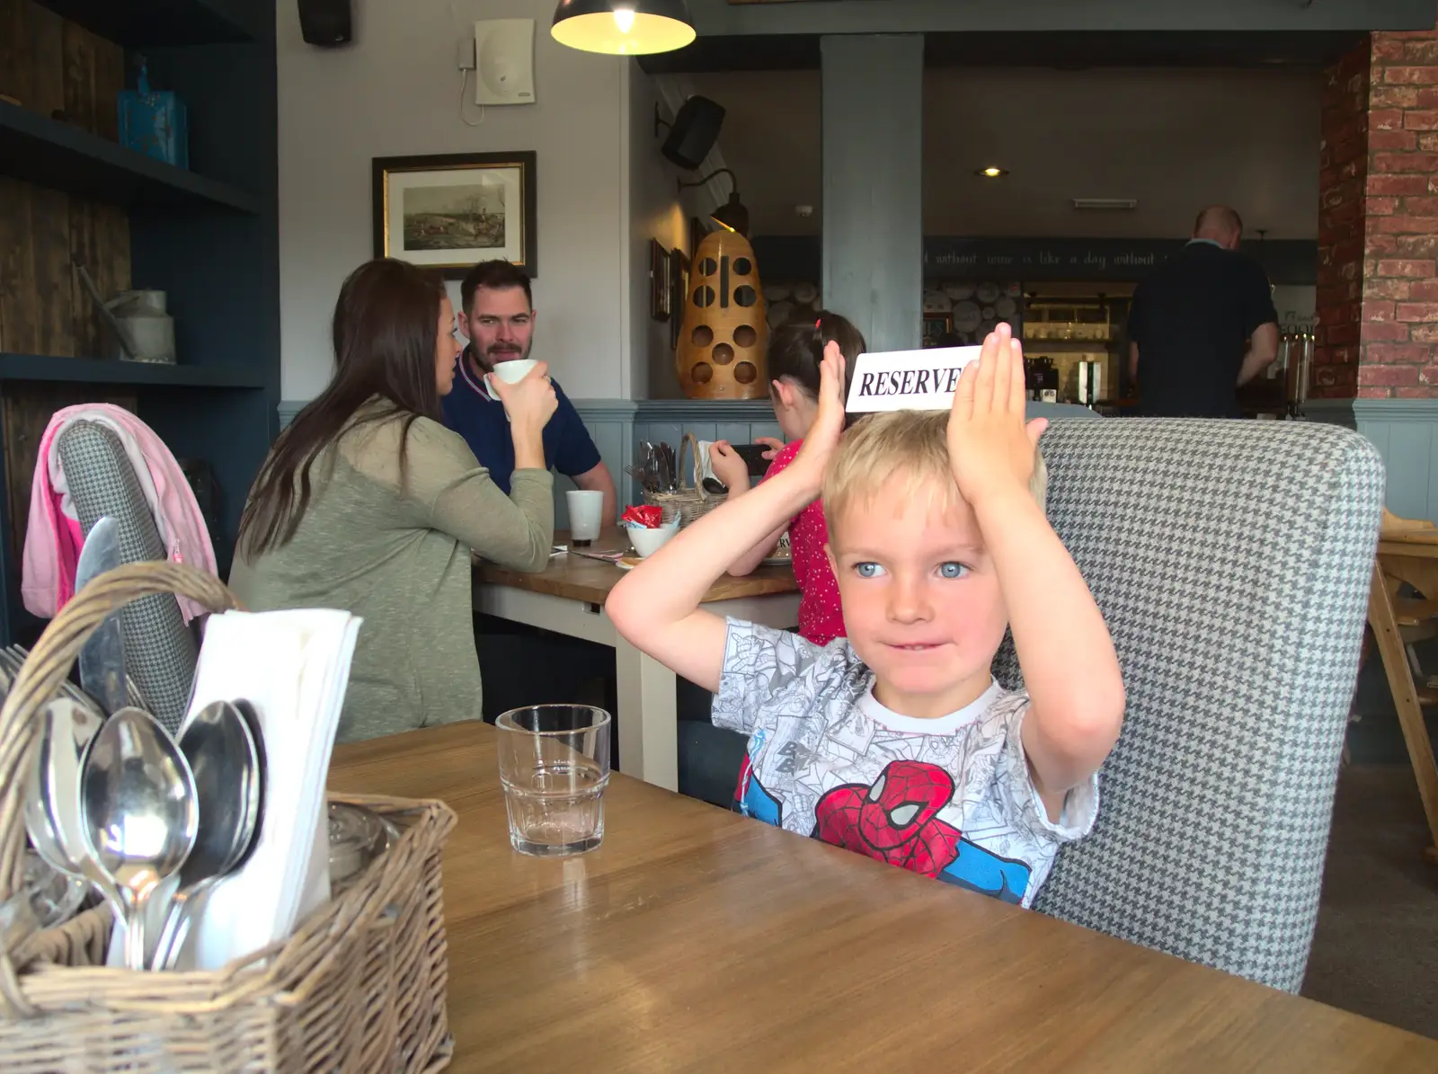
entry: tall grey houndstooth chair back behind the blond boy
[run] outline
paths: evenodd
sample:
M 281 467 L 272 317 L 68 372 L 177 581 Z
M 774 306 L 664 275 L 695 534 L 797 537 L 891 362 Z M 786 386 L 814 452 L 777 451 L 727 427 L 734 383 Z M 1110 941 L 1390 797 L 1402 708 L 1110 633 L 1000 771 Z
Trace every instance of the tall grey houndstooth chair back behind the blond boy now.
M 1048 518 L 1123 666 L 1093 835 L 1037 909 L 1296 992 L 1383 500 L 1372 444 L 1288 421 L 1054 421 Z M 1018 681 L 1012 647 L 995 661 Z

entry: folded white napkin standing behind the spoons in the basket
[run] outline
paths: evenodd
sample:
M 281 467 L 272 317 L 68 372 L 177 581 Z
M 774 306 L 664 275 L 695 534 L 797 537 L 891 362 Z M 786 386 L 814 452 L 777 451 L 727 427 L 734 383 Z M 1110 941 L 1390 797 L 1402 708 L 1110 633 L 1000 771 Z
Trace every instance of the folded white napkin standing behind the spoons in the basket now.
M 216 700 L 255 706 L 265 745 L 265 807 L 244 867 L 194 900 L 194 926 L 177 969 L 216 969 L 285 939 L 329 899 L 325 776 L 360 624 L 349 612 L 318 608 L 227 611 L 206 624 L 188 715 Z M 164 922 L 162 894 L 145 919 L 151 936 Z M 122 927 L 115 933 L 111 965 Z

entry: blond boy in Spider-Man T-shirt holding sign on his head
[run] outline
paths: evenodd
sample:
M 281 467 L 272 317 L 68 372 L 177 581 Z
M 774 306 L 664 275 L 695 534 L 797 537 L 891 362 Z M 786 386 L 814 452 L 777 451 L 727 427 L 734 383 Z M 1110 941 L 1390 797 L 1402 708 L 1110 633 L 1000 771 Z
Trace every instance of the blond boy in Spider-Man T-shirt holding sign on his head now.
M 991 335 L 948 416 L 870 417 L 841 437 L 843 357 L 794 463 L 624 578 L 618 631 L 715 692 L 749 736 L 746 814 L 1028 906 L 1089 832 L 1123 681 L 1087 585 L 1035 496 L 1020 345 Z M 1041 480 L 1041 479 L 1040 479 Z M 847 638 L 820 648 L 700 598 L 817 496 Z M 1025 689 L 989 666 L 1014 634 Z

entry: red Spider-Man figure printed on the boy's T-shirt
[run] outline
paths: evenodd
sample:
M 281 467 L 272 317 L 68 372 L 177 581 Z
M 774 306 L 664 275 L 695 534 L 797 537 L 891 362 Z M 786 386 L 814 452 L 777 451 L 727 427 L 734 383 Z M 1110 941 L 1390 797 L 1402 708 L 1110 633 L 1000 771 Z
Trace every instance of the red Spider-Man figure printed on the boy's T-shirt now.
M 936 877 L 959 855 L 959 830 L 938 818 L 953 776 L 923 761 L 893 761 L 871 786 L 835 786 L 814 807 L 814 837 Z

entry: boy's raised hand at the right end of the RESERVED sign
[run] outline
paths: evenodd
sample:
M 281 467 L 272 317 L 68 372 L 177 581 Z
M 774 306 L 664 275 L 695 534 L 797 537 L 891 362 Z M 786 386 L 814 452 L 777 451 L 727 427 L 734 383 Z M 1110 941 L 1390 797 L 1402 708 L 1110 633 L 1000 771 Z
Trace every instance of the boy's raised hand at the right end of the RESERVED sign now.
M 949 411 L 949 466 L 971 505 L 995 493 L 1028 492 L 1045 418 L 1024 423 L 1024 349 L 1008 325 L 984 341 L 965 367 Z

